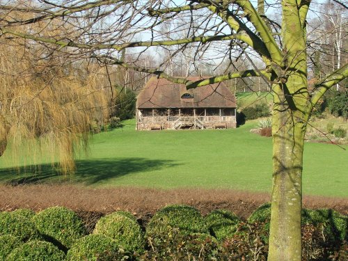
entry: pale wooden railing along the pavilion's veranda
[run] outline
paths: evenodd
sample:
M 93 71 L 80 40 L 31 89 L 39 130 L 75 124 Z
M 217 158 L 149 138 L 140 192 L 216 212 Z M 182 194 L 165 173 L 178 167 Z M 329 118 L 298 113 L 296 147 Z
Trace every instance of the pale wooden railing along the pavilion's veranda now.
M 146 116 L 138 117 L 139 122 L 175 122 L 180 120 L 181 122 L 194 122 L 195 119 L 201 122 L 236 122 L 235 116 Z

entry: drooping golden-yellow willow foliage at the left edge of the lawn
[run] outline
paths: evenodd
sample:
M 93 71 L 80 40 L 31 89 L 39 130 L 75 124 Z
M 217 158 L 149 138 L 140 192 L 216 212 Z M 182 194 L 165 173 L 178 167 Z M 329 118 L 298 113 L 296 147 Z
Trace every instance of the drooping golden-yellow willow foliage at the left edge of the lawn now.
M 71 173 L 74 154 L 86 148 L 90 125 L 109 116 L 102 69 L 95 66 L 82 79 L 76 66 L 34 60 L 24 48 L 0 45 L 0 156 L 7 144 L 6 158 L 13 164 L 36 164 L 45 157 L 62 173 Z M 34 148 L 45 152 L 38 156 Z

